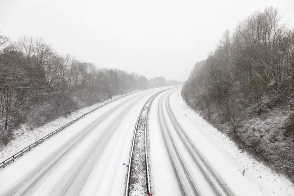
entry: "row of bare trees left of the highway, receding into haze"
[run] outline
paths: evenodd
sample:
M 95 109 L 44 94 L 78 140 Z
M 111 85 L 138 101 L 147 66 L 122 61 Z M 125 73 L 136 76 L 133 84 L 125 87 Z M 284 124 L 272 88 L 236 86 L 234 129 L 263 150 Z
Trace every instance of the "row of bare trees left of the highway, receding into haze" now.
M 156 86 L 156 85 L 155 85 Z M 60 55 L 42 39 L 0 34 L 0 145 L 21 123 L 31 127 L 113 95 L 151 87 L 145 76 Z M 154 85 L 152 85 L 154 87 Z

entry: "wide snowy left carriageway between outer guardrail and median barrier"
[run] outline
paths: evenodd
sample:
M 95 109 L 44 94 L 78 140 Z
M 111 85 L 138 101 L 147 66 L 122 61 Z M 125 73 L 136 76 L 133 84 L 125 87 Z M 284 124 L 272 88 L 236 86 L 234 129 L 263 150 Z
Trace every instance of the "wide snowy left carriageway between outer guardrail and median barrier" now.
M 32 149 L 0 171 L 0 195 L 123 195 L 134 124 L 160 90 L 117 100 Z

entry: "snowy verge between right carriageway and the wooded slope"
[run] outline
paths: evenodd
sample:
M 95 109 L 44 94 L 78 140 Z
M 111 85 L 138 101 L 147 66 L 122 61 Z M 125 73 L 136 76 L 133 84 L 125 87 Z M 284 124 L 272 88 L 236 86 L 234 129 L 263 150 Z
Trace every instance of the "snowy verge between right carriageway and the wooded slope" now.
M 185 111 L 186 117 L 197 125 L 197 128 L 239 169 L 240 173 L 245 170 L 245 178 L 252 181 L 266 195 L 270 193 L 274 196 L 294 196 L 294 185 L 290 179 L 277 174 L 246 152 L 241 151 L 233 141 L 196 114 L 185 103 L 180 93 L 180 90 L 176 91 L 174 98 Z

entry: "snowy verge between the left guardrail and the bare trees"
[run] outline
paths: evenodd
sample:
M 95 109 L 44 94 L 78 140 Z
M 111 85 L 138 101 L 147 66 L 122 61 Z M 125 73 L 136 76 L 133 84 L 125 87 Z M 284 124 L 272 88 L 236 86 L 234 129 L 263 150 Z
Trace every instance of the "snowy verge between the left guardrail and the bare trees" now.
M 132 94 L 132 93 L 129 93 Z M 129 94 L 124 94 L 129 95 Z M 121 98 L 122 96 L 113 96 L 112 100 L 116 100 Z M 43 126 L 34 128 L 30 130 L 25 124 L 22 124 L 20 128 L 14 131 L 14 139 L 7 145 L 0 148 L 0 162 L 6 160 L 13 154 L 19 152 L 20 150 L 24 149 L 28 145 L 36 142 L 40 138 L 44 137 L 45 135 L 49 134 L 50 132 L 56 130 L 57 128 L 61 127 L 62 125 L 73 121 L 74 119 L 82 116 L 83 114 L 107 103 L 108 100 L 105 100 L 100 103 L 96 103 L 94 105 L 84 107 L 82 109 L 76 110 L 72 112 L 67 117 L 63 116 L 54 121 L 46 123 Z

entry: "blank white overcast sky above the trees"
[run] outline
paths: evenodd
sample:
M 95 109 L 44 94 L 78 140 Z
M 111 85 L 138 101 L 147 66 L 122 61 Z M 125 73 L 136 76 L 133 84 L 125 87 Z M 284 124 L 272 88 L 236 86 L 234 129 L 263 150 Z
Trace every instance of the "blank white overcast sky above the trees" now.
M 186 80 L 226 29 L 270 5 L 294 27 L 294 0 L 0 0 L 0 31 L 99 68 Z

